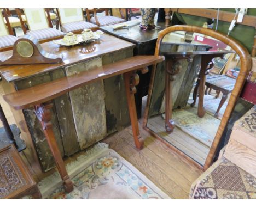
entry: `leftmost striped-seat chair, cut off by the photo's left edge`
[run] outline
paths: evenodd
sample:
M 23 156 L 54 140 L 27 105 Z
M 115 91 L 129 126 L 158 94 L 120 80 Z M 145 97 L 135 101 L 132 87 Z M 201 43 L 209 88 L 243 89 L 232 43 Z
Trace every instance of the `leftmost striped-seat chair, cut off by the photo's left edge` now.
M 3 14 L 5 16 L 5 21 L 7 22 L 6 28 L 3 15 L 0 13 L 0 51 L 7 51 L 13 48 L 14 42 L 18 39 L 13 35 L 13 30 L 11 29 L 10 22 L 6 13 L 6 10 L 3 9 Z

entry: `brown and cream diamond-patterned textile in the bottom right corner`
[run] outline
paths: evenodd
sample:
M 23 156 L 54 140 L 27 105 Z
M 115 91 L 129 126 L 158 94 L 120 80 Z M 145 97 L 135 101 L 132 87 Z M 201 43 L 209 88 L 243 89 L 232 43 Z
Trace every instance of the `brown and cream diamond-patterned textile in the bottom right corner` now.
M 256 179 L 222 157 L 191 186 L 191 199 L 256 199 Z

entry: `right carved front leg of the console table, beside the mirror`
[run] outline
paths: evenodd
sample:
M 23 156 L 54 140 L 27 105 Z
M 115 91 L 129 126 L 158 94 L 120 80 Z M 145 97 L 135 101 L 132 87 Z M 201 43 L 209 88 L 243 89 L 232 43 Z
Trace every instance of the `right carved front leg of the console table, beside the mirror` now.
M 137 118 L 135 98 L 134 98 L 134 94 L 137 91 L 135 86 L 138 85 L 139 83 L 139 76 L 136 72 L 131 71 L 124 74 L 124 79 L 125 79 L 125 91 L 127 96 L 127 105 L 129 108 L 130 119 L 131 119 L 133 139 L 134 139 L 136 148 L 142 149 L 144 142 L 143 142 L 143 138 L 139 133 L 138 118 Z

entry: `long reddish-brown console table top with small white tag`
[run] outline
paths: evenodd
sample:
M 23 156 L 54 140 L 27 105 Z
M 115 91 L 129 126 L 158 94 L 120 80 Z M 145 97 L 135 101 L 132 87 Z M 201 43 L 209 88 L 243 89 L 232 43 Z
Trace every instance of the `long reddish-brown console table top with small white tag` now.
M 25 109 L 55 99 L 55 97 L 63 95 L 67 91 L 77 89 L 82 85 L 124 74 L 129 71 L 143 69 L 162 60 L 164 60 L 162 56 L 135 56 L 113 64 L 101 66 L 95 70 L 85 71 L 74 76 L 63 77 L 53 82 L 19 90 L 3 97 L 14 109 Z

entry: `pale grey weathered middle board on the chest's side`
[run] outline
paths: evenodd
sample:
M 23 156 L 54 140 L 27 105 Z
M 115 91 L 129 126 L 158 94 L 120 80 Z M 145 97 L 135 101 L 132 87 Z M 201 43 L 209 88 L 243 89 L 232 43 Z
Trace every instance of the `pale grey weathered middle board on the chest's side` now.
M 65 68 L 66 75 L 79 74 L 101 66 L 101 58 L 74 64 Z M 75 129 L 81 149 L 106 136 L 105 93 L 103 81 L 87 84 L 69 92 Z

